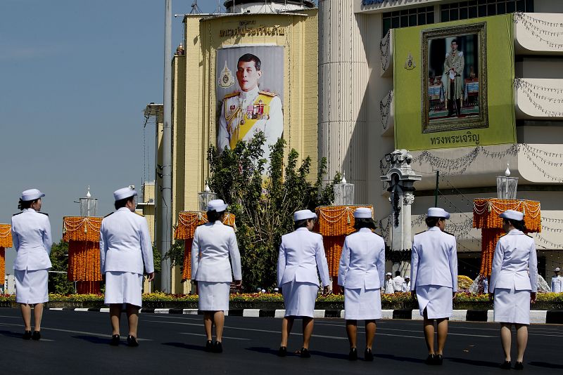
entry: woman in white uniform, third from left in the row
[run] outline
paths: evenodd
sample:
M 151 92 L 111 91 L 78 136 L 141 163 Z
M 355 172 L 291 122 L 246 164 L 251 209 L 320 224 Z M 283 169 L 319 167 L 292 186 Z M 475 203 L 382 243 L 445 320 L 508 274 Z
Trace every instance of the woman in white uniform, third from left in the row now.
M 229 310 L 229 291 L 233 281 L 242 283 L 241 256 L 233 228 L 224 225 L 227 204 L 222 199 L 208 203 L 208 223 L 194 232 L 191 246 L 191 278 L 198 286 L 198 308 L 203 311 L 205 350 L 222 353 L 224 312 Z M 229 256 L 231 261 L 229 262 Z M 215 324 L 215 342 L 212 329 Z

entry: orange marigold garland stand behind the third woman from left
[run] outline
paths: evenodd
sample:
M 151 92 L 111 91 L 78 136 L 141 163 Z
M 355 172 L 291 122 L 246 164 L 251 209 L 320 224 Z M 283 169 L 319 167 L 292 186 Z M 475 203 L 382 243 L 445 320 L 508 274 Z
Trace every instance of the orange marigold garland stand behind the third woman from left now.
M 185 240 L 182 280 L 191 279 L 191 242 L 194 239 L 194 232 L 199 225 L 207 222 L 207 213 L 203 211 L 182 211 L 178 214 L 178 225 L 174 231 L 174 238 Z M 235 216 L 232 213 L 226 213 L 223 224 L 230 225 L 236 230 Z

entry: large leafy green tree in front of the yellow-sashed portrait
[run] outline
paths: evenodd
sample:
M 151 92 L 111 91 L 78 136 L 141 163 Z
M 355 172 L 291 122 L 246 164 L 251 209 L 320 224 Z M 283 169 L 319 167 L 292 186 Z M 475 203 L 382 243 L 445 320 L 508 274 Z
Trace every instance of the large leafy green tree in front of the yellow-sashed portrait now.
M 239 142 L 234 150 L 225 147 L 208 150 L 209 185 L 229 204 L 236 216 L 236 238 L 241 251 L 243 285 L 248 290 L 274 287 L 277 282 L 277 256 L 281 236 L 293 230 L 293 212 L 331 204 L 332 183 L 322 187 L 327 173 L 326 159 L 320 160 L 315 183 L 310 182 L 310 157 L 299 162 L 296 150 L 289 150 L 284 161 L 286 141 L 279 139 L 270 147 L 270 166 L 265 171 L 262 158 L 264 133 L 248 142 Z

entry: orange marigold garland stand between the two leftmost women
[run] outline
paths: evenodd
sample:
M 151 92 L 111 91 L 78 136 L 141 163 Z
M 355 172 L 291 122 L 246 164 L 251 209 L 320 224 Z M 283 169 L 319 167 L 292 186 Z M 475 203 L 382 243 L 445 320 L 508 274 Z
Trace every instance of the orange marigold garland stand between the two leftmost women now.
M 100 269 L 100 227 L 102 218 L 65 216 L 63 240 L 68 241 L 70 281 L 77 282 L 78 294 L 99 294 L 102 279 Z

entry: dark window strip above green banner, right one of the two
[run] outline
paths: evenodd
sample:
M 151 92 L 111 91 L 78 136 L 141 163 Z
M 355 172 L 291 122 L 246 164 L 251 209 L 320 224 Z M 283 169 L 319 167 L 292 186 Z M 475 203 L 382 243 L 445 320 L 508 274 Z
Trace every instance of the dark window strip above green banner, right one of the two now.
M 533 12 L 533 0 L 471 0 L 440 6 L 441 22 L 514 12 Z

